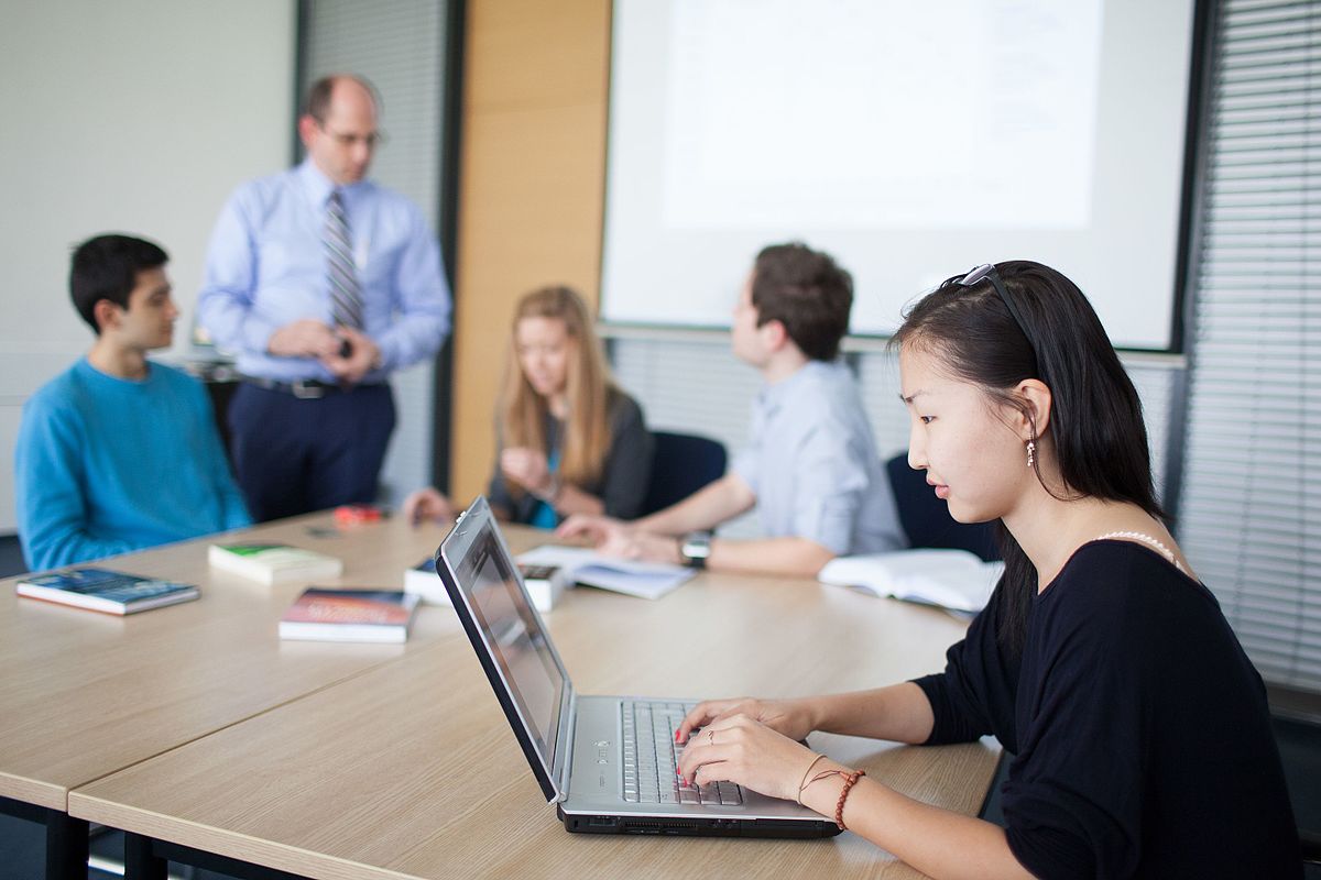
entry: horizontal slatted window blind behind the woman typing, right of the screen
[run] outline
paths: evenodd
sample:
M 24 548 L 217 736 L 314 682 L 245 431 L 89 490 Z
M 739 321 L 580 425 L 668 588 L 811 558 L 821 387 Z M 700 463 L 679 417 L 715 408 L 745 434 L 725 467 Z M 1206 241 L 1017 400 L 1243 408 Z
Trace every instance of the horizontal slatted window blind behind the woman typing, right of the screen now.
M 1178 536 L 1263 677 L 1321 691 L 1321 0 L 1215 17 Z

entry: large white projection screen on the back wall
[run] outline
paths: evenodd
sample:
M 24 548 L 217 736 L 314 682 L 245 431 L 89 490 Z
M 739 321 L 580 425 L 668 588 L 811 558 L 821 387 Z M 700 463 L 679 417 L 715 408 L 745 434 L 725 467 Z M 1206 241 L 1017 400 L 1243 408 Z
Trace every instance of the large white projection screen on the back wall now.
M 1172 340 L 1193 0 L 616 0 L 606 322 L 729 325 L 757 251 L 853 273 L 853 334 L 982 263 Z

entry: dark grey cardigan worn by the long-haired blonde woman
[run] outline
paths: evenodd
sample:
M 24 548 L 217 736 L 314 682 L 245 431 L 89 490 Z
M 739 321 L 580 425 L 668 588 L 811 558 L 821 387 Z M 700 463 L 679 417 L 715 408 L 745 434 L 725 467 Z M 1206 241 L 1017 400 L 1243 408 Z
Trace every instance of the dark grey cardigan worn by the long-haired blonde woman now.
M 631 520 L 642 513 L 642 499 L 651 480 L 651 455 L 655 443 L 637 401 L 621 391 L 612 391 L 609 408 L 610 450 L 605 456 L 605 467 L 594 483 L 575 488 L 601 499 L 606 516 Z M 553 416 L 546 417 L 547 458 L 559 449 L 563 427 Z M 514 522 L 531 522 L 540 504 L 540 499 L 527 492 L 519 492 L 517 496 L 510 493 L 499 470 L 498 450 L 486 497 L 491 508 L 507 512 Z

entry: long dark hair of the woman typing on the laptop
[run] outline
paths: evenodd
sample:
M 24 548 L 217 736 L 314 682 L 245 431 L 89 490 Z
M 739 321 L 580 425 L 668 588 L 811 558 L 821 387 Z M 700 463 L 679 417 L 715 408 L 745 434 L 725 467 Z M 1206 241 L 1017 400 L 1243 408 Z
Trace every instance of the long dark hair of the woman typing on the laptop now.
M 1021 327 L 989 280 L 963 286 L 955 284 L 963 276 L 955 276 L 909 309 L 890 346 L 938 355 L 951 375 L 1020 412 L 1025 404 L 1011 389 L 1024 379 L 1045 383 L 1065 497 L 1129 501 L 1166 519 L 1152 487 L 1137 389 L 1087 297 L 1040 263 L 1012 260 L 996 264 L 996 270 Z M 1000 544 L 1005 582 L 996 627 L 1001 644 L 1018 653 L 1028 635 L 1037 571 L 1003 522 Z

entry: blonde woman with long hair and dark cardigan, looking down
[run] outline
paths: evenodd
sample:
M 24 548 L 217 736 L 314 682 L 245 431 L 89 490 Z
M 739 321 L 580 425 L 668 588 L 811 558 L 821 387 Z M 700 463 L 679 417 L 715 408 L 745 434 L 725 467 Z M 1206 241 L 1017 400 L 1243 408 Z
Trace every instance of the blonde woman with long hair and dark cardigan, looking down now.
M 651 434 L 637 401 L 614 384 L 587 303 L 569 288 L 519 301 L 495 422 L 501 449 L 487 496 L 501 519 L 555 528 L 571 513 L 641 512 Z M 417 522 L 454 511 L 425 488 L 408 496 L 404 515 Z

